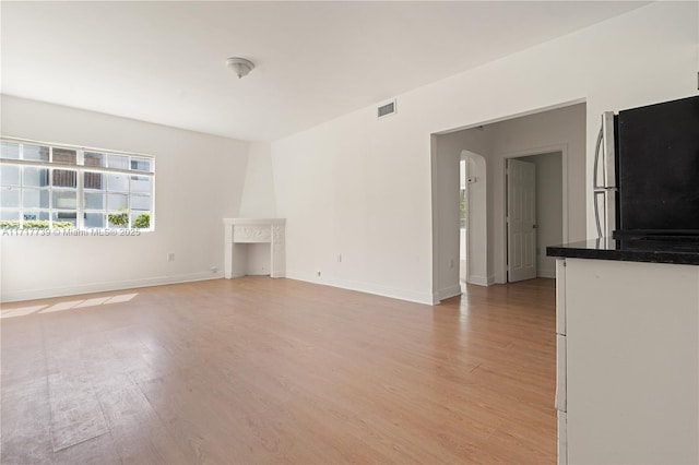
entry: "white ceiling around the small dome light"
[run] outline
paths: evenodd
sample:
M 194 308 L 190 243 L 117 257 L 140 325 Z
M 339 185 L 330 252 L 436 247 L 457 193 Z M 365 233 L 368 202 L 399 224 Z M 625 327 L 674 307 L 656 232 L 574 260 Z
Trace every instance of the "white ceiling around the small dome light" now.
M 2 93 L 275 140 L 645 3 L 2 1 Z

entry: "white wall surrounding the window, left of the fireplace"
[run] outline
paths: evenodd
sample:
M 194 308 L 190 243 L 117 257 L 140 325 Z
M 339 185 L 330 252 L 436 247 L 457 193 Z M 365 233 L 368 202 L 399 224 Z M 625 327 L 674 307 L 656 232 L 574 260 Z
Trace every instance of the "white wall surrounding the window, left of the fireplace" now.
M 3 135 L 156 157 L 154 233 L 2 236 L 3 301 L 223 276 L 222 218 L 238 215 L 247 143 L 10 96 L 1 105 Z

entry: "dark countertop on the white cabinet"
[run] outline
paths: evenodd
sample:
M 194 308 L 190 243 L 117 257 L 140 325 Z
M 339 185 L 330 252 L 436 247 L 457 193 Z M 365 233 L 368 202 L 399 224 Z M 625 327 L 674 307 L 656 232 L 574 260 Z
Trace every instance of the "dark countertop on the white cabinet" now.
M 699 240 L 616 240 L 604 238 L 547 247 L 546 255 L 699 265 Z

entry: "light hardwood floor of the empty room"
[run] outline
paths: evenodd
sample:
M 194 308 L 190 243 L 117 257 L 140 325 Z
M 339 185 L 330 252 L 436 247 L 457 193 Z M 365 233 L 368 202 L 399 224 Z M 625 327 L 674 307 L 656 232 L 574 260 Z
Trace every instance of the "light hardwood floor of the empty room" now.
M 553 279 L 429 307 L 245 277 L 2 317 L 2 464 L 556 460 Z

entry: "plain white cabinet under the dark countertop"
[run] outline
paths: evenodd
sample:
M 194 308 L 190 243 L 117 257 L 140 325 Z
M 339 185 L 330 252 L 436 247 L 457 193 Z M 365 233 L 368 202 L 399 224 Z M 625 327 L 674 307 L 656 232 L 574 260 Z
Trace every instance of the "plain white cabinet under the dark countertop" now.
M 558 264 L 559 462 L 699 463 L 699 266 Z

